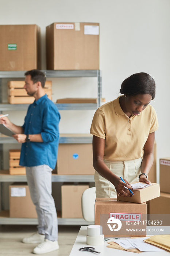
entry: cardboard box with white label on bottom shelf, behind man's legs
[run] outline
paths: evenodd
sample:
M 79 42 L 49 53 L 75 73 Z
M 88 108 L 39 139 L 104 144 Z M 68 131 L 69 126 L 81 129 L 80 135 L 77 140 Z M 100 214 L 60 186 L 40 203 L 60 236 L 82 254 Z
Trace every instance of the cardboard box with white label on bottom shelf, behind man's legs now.
M 9 217 L 37 218 L 30 191 L 26 183 L 14 183 L 9 186 Z

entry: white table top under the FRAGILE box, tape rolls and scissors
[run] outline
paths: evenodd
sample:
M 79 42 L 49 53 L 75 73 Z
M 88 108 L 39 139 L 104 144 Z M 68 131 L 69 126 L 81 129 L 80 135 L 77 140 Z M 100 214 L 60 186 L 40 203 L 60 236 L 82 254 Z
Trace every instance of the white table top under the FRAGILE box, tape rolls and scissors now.
M 76 241 L 73 245 L 72 251 L 70 253 L 70 256 L 91 256 L 91 255 L 101 255 L 101 256 L 170 256 L 170 252 L 168 251 L 161 251 L 161 252 L 141 252 L 140 254 L 136 254 L 134 252 L 127 252 L 127 251 L 121 251 L 117 249 L 107 248 L 108 245 L 107 242 L 115 241 L 114 237 L 106 237 L 109 238 L 108 241 L 105 241 L 103 245 L 87 245 L 86 244 L 86 234 L 87 234 L 87 226 L 81 226 L 80 231 L 78 233 L 78 236 L 76 238 Z M 123 237 L 120 237 L 122 239 Z M 95 251 L 101 252 L 101 253 L 92 253 L 92 252 L 86 252 L 86 251 L 79 251 L 82 247 L 94 247 Z

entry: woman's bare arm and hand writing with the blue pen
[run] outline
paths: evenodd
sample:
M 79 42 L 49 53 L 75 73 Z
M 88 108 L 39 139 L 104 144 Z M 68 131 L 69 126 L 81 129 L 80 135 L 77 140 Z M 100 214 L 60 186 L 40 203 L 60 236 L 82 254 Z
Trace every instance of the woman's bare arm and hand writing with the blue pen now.
M 131 185 L 127 180 L 125 184 L 121 181 L 120 177 L 115 175 L 114 173 L 109 170 L 109 168 L 105 165 L 103 161 L 104 157 L 104 146 L 105 146 L 105 139 L 99 138 L 93 135 L 93 167 L 94 169 L 105 179 L 110 181 L 117 191 L 120 193 L 121 196 L 131 196 L 129 190 L 125 189 L 124 187 L 132 189 Z

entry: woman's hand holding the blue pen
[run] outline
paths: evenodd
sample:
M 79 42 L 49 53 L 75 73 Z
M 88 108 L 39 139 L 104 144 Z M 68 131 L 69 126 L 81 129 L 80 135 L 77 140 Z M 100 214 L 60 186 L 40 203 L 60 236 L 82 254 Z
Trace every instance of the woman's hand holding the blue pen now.
M 114 186 L 117 192 L 117 196 L 132 196 L 131 192 L 128 190 L 128 188 L 130 188 L 131 190 L 133 190 L 133 188 L 131 187 L 131 184 L 127 181 L 124 180 L 126 183 L 124 183 L 120 177 L 117 177 L 115 179 L 114 182 Z

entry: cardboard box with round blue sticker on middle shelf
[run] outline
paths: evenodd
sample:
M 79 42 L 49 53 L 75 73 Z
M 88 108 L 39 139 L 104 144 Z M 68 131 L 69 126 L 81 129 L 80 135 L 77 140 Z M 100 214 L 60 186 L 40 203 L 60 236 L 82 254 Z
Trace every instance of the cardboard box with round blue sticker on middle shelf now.
M 92 144 L 59 144 L 57 174 L 92 174 Z

